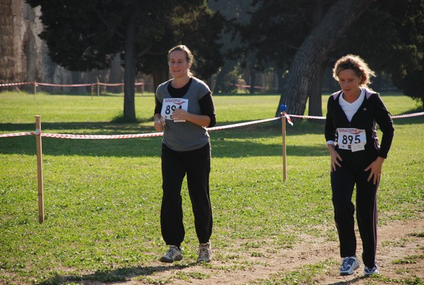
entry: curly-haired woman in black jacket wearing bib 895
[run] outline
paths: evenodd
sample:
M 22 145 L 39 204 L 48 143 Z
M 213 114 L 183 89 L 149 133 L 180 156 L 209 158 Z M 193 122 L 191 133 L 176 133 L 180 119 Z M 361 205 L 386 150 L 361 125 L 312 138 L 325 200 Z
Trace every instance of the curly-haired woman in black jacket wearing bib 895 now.
M 378 274 L 377 189 L 394 136 L 393 121 L 379 94 L 367 88 L 375 74 L 363 59 L 352 54 L 341 57 L 334 65 L 333 76 L 341 91 L 328 100 L 325 138 L 331 157 L 334 219 L 343 258 L 340 274 L 353 274 L 359 267 L 355 253 L 355 206 L 351 201 L 355 185 L 364 272 L 366 276 Z M 382 132 L 381 145 L 377 124 Z

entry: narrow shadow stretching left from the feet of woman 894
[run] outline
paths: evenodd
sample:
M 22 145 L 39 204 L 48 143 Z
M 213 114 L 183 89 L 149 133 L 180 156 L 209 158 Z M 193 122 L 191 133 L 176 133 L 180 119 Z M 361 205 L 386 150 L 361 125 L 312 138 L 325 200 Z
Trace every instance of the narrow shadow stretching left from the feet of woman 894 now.
M 78 282 L 78 284 L 98 284 L 99 282 L 104 284 L 122 283 L 123 281 L 129 281 L 136 277 L 146 277 L 154 275 L 158 272 L 174 271 L 184 269 L 187 267 L 196 266 L 196 262 L 189 264 L 169 264 L 160 266 L 148 266 L 148 267 L 122 267 L 117 269 L 105 269 L 97 271 L 93 274 L 87 275 L 59 275 L 42 281 L 42 285 L 50 284 L 67 284 L 69 282 Z M 162 284 L 162 283 L 160 283 Z

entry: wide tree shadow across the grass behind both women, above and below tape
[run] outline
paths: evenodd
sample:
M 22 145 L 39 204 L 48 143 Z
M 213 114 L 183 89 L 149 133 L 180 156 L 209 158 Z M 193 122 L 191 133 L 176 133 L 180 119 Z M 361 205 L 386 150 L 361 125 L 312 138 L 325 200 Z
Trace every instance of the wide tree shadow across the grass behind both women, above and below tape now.
M 396 124 L 423 124 L 423 116 L 394 120 Z M 223 122 L 220 125 L 240 122 Z M 319 134 L 324 141 L 324 120 L 294 120 L 295 125 L 286 124 L 287 136 Z M 33 132 L 35 124 L 0 124 L 0 132 Z M 49 131 L 53 130 L 53 131 Z M 63 132 L 62 132 L 63 130 Z M 44 133 L 64 134 L 146 134 L 155 132 L 151 126 L 139 123 L 117 122 L 46 122 Z M 211 131 L 212 156 L 216 158 L 239 158 L 247 156 L 282 156 L 280 140 L 276 144 L 261 144 L 258 139 L 281 138 L 281 120 L 252 124 L 245 127 Z M 108 157 L 158 157 L 162 136 L 134 139 L 42 139 L 43 154 L 50 156 L 108 156 Z M 230 141 L 231 140 L 231 141 Z M 286 147 L 288 156 L 326 156 L 322 146 Z M 13 136 L 0 138 L 0 153 L 35 155 L 35 136 Z

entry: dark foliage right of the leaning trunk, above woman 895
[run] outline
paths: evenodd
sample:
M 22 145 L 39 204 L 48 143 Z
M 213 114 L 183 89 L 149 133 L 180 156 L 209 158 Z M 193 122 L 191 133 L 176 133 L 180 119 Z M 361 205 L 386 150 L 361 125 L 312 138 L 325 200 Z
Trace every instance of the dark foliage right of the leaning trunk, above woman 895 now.
M 360 54 L 411 98 L 423 98 L 424 1 L 375 1 L 336 52 Z M 375 31 L 378 30 L 378 33 Z

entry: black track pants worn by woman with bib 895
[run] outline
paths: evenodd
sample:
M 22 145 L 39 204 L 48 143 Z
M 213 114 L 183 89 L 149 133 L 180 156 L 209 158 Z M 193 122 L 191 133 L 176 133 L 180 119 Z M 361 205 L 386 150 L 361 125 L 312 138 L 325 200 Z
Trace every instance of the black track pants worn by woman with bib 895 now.
M 363 241 L 363 262 L 372 268 L 377 251 L 377 189 L 372 180 L 367 181 L 370 171 L 365 172 L 363 165 L 355 165 L 353 160 L 343 158 L 342 167 L 331 173 L 332 201 L 334 219 L 340 240 L 341 257 L 355 256 L 355 206 L 352 203 L 353 189 L 356 184 L 356 219 L 360 237 Z

